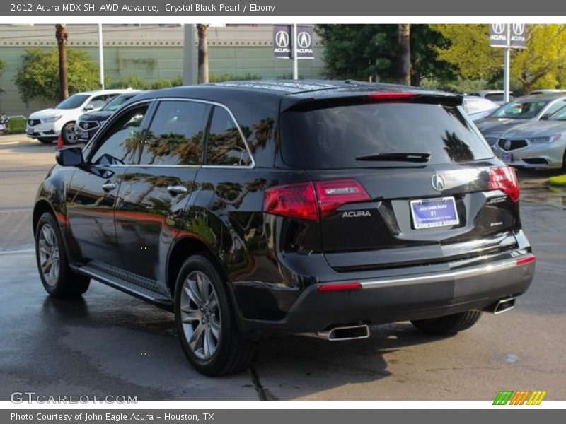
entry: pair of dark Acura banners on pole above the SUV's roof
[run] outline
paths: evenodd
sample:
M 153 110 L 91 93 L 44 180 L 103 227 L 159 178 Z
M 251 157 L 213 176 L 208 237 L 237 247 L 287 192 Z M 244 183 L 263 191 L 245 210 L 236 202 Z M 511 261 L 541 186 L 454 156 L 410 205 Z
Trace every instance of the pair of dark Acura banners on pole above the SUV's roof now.
M 312 25 L 296 25 L 297 59 L 314 59 Z M 273 25 L 273 57 L 293 59 L 293 25 Z

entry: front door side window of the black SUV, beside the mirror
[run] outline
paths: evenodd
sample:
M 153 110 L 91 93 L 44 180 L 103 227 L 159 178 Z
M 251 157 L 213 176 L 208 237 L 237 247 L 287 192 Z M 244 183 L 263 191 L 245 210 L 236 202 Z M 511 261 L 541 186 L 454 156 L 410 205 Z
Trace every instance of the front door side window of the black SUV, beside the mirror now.
M 129 109 L 102 134 L 91 157 L 93 165 L 131 165 L 137 163 L 144 146 L 141 122 L 149 105 Z

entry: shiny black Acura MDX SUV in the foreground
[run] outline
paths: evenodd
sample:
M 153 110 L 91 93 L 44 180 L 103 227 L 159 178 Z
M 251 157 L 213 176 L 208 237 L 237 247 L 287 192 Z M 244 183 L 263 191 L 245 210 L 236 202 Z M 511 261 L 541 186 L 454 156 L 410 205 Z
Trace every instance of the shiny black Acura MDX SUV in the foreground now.
M 275 333 L 455 334 L 529 287 L 519 187 L 460 96 L 354 81 L 171 88 L 57 152 L 33 229 L 53 296 L 92 279 L 175 312 L 207 375 Z

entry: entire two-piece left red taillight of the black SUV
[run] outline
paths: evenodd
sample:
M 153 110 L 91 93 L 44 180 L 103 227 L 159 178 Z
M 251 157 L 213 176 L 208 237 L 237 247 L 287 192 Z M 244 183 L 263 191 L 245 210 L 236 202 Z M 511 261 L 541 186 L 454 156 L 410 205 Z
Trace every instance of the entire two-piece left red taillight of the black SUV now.
M 263 211 L 290 218 L 318 220 L 344 204 L 368 200 L 371 197 L 356 179 L 299 182 L 267 189 Z

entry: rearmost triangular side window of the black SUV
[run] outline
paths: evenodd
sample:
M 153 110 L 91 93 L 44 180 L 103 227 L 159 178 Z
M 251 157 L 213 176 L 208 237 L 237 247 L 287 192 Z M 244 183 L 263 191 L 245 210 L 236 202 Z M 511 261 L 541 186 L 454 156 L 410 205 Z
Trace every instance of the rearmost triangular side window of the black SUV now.
M 238 126 L 223 107 L 214 107 L 207 139 L 207 165 L 251 165 Z

